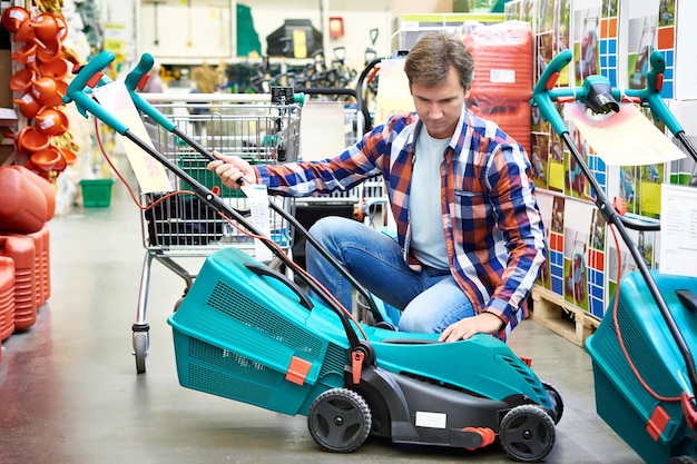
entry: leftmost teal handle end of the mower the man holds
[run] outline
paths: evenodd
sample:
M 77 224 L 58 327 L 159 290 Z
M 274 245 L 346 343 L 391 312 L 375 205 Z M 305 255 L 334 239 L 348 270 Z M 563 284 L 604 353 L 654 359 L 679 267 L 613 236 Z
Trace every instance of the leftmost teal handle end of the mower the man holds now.
M 101 70 L 109 66 L 115 58 L 116 56 L 110 51 L 102 51 L 92 58 L 72 79 L 62 101 L 63 103 L 75 102 L 78 111 L 85 118 L 87 118 L 88 112 L 91 112 L 97 119 L 104 121 L 120 135 L 125 135 L 128 127 L 99 105 L 91 96 L 87 95 L 86 90 L 86 87 L 94 88 L 110 81 L 109 78 L 101 73 Z

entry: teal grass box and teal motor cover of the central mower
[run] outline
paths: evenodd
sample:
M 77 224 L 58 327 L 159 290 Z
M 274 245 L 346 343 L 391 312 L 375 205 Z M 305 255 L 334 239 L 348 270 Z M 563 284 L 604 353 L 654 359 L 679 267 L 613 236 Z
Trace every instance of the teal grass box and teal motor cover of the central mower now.
M 336 313 L 293 290 L 283 278 L 256 275 L 246 267 L 249 264 L 257 263 L 234 247 L 209 255 L 169 316 L 179 383 L 271 411 L 306 415 L 321 393 L 345 386 L 348 338 Z M 355 323 L 351 326 L 360 333 Z M 552 408 L 530 367 L 492 336 L 439 343 L 436 334 L 364 324 L 361 329 L 377 368 L 494 401 L 523 395 Z M 302 385 L 286 377 L 294 357 L 310 364 Z

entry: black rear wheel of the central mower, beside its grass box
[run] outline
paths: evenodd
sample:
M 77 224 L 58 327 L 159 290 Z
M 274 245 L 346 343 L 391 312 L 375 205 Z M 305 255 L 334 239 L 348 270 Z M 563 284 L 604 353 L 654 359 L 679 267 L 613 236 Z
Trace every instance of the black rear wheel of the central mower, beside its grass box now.
M 315 398 L 307 414 L 314 441 L 332 453 L 351 453 L 365 442 L 372 415 L 367 403 L 347 388 L 327 389 Z

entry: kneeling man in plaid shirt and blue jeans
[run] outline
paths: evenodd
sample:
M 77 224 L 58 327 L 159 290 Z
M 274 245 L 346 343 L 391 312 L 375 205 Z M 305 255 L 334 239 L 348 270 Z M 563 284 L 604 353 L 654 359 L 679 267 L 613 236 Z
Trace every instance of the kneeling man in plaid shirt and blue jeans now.
M 544 261 L 540 213 L 523 148 L 465 106 L 474 63 L 462 40 L 423 36 L 404 71 L 415 112 L 390 118 L 341 155 L 315 162 L 251 167 L 219 156 L 208 169 L 228 187 L 244 177 L 272 194 L 350 189 L 382 174 L 396 240 L 351 219 L 311 229 L 371 293 L 402 310 L 399 329 L 501 339 L 524 317 Z M 351 287 L 313 247 L 307 270 L 351 308 Z

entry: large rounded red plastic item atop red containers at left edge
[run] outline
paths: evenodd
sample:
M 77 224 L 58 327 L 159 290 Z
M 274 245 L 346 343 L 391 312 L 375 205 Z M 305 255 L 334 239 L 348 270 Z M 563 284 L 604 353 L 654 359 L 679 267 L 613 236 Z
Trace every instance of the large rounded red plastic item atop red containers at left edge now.
M 46 195 L 18 169 L 0 167 L 0 230 L 32 234 L 49 217 Z

